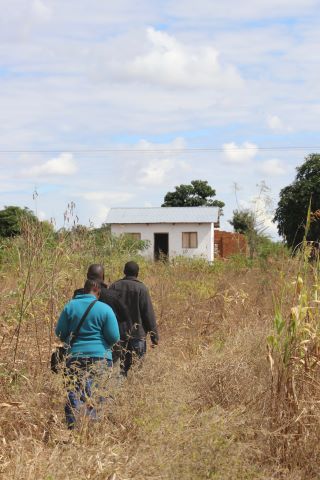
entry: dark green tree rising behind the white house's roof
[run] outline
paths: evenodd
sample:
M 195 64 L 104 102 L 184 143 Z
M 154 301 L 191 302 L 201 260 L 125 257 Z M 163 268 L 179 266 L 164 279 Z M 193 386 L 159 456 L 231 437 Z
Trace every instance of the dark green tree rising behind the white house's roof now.
M 164 197 L 162 207 L 224 207 L 224 202 L 213 200 L 216 191 L 206 180 L 192 180 L 189 185 L 179 185 Z

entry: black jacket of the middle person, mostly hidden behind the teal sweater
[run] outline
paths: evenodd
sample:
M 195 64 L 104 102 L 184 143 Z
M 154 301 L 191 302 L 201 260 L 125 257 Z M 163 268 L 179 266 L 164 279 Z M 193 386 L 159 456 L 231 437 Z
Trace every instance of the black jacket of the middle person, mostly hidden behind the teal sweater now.
M 73 296 L 84 293 L 83 288 L 78 288 L 74 291 Z M 117 317 L 119 331 L 120 331 L 120 340 L 126 342 L 130 336 L 132 329 L 131 317 L 129 312 L 121 300 L 120 294 L 115 290 L 110 290 L 107 288 L 107 285 L 104 283 L 101 284 L 101 293 L 99 297 L 100 302 L 106 303 L 114 311 L 115 316 Z

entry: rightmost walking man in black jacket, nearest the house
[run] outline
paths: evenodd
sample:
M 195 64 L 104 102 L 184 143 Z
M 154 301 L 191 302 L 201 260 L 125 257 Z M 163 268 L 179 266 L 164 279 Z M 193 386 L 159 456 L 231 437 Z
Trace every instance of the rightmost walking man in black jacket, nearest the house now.
M 138 280 L 139 265 L 136 262 L 127 262 L 124 266 L 125 277 L 113 283 L 109 291 L 120 294 L 131 317 L 131 335 L 128 348 L 123 356 L 123 371 L 127 375 L 133 357 L 142 358 L 146 353 L 146 336 L 150 333 L 152 346 L 158 345 L 158 329 L 151 298 L 147 287 Z

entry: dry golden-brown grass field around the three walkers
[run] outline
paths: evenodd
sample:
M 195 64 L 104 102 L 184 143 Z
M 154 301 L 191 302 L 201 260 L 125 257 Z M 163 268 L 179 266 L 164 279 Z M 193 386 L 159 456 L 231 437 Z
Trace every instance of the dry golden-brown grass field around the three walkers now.
M 0 478 L 320 478 L 320 282 L 303 256 L 141 260 L 161 343 L 69 434 L 54 323 L 90 262 L 114 280 L 128 258 L 32 229 L 2 248 Z

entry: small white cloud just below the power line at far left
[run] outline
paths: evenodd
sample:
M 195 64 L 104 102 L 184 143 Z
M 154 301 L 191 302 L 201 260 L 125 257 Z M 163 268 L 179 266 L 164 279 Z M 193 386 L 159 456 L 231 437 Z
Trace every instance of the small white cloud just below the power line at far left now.
M 26 177 L 45 177 L 54 175 L 73 175 L 78 167 L 72 153 L 61 153 L 58 157 L 47 160 L 42 165 L 34 165 L 21 173 Z

